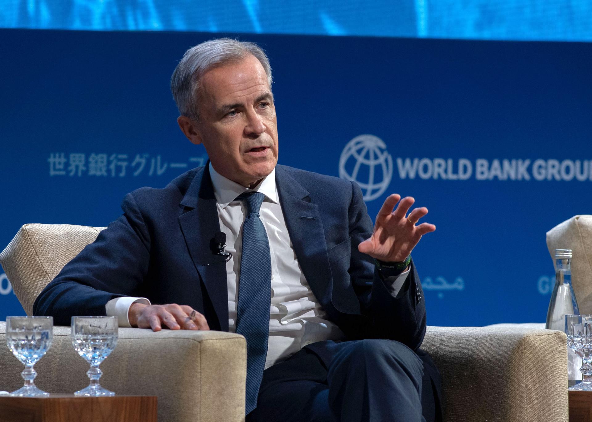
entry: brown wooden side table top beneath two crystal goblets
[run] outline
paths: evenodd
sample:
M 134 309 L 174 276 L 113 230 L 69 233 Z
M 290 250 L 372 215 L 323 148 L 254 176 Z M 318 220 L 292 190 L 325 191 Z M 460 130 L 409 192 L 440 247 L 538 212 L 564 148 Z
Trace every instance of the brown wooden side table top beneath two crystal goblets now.
M 2 396 L 0 422 L 157 422 L 156 396 Z

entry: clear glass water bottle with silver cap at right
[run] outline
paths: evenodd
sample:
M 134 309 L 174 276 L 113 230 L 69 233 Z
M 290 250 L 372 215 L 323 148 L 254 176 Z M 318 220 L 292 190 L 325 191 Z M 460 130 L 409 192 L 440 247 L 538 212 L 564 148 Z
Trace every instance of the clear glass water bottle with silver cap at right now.
M 571 249 L 555 249 L 555 287 L 551 294 L 547 322 L 548 330 L 565 330 L 565 315 L 580 314 L 574 290 L 571 288 Z

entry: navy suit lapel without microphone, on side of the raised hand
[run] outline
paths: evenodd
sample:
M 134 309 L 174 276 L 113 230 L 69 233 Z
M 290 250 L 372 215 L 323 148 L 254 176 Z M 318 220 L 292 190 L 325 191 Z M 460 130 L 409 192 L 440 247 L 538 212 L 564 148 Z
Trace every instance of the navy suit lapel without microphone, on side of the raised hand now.
M 331 302 L 333 279 L 323 221 L 309 192 L 281 166 L 275 167 L 279 203 L 304 276 L 323 307 Z

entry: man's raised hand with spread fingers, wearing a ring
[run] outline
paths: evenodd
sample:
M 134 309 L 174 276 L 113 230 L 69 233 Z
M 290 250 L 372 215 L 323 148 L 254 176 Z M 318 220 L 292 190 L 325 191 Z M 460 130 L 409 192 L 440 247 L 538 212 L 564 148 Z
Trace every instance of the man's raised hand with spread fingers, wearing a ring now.
M 392 194 L 385 199 L 376 217 L 374 231 L 370 239 L 362 241 L 358 250 L 376 259 L 386 262 L 402 262 L 410 255 L 422 236 L 436 230 L 436 226 L 417 221 L 427 214 L 427 208 L 414 208 L 407 211 L 415 202 L 411 196 L 401 199 L 401 195 Z M 399 204 L 397 205 L 397 202 Z M 397 205 L 397 208 L 392 209 Z

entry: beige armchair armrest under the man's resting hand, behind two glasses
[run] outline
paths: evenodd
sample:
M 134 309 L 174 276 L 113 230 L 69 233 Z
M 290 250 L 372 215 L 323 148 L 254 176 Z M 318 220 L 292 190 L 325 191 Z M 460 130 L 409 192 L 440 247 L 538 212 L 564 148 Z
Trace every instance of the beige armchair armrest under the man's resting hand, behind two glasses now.
M 22 386 L 22 364 L 0 323 L 0 390 Z M 88 363 L 72 347 L 70 327 L 54 327 L 53 344 L 35 365 L 36 385 L 72 393 L 88 385 Z M 126 395 L 156 395 L 166 422 L 244 421 L 246 342 L 222 331 L 120 328 L 117 347 L 101 364 L 101 385 Z

